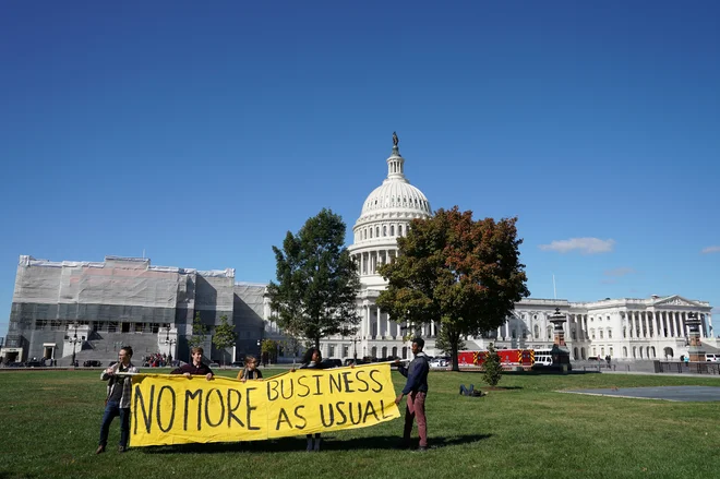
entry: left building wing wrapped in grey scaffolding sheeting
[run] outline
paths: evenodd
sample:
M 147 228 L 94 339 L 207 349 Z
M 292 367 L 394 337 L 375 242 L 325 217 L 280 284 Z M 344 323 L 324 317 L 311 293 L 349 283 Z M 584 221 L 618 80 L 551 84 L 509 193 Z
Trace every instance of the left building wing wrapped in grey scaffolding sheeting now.
M 153 266 L 148 259 L 106 256 L 51 262 L 20 256 L 4 361 L 56 360 L 70 364 L 117 360 L 132 346 L 134 360 L 153 354 L 188 360 L 195 313 L 208 327 L 203 348 L 213 360 L 257 354 L 269 336 L 266 285 L 235 283 L 235 270 Z M 226 315 L 237 343 L 218 350 L 213 330 Z

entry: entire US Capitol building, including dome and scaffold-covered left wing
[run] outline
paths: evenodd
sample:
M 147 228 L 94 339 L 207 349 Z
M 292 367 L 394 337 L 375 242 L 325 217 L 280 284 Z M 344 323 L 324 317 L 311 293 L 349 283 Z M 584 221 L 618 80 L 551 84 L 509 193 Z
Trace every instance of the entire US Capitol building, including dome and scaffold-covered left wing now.
M 387 177 L 362 204 L 352 228 L 350 254 L 357 260 L 361 289 L 357 298 L 361 318 L 353 337 L 322 342 L 325 358 L 408 358 L 407 330 L 394 322 L 375 301 L 386 287 L 377 273 L 398 254 L 397 238 L 410 221 L 432 214 L 430 202 L 405 176 L 405 158 L 397 136 L 386 159 Z M 87 359 L 116 360 L 120 346 L 130 345 L 136 359 L 155 352 L 188 360 L 192 320 L 200 313 L 209 326 L 204 344 L 213 360 L 230 361 L 259 354 L 265 338 L 284 339 L 274 322 L 266 285 L 236 280 L 235 270 L 197 271 L 151 265 L 148 259 L 106 256 L 104 262 L 36 260 L 22 255 L 17 265 L 4 361 L 55 359 L 58 366 Z M 717 348 L 711 306 L 707 301 L 673 296 L 571 302 L 526 298 L 516 303 L 505 324 L 483 337 L 468 337 L 467 349 L 549 348 L 553 343 L 550 316 L 565 314 L 565 339 L 573 359 L 611 356 L 613 360 L 679 359 L 688 354 L 685 321 L 700 320 L 704 345 Z M 213 328 L 227 316 L 235 324 L 235 347 L 216 349 Z M 436 324 L 422 327 L 425 350 L 435 351 Z M 280 360 L 291 361 L 288 357 Z

